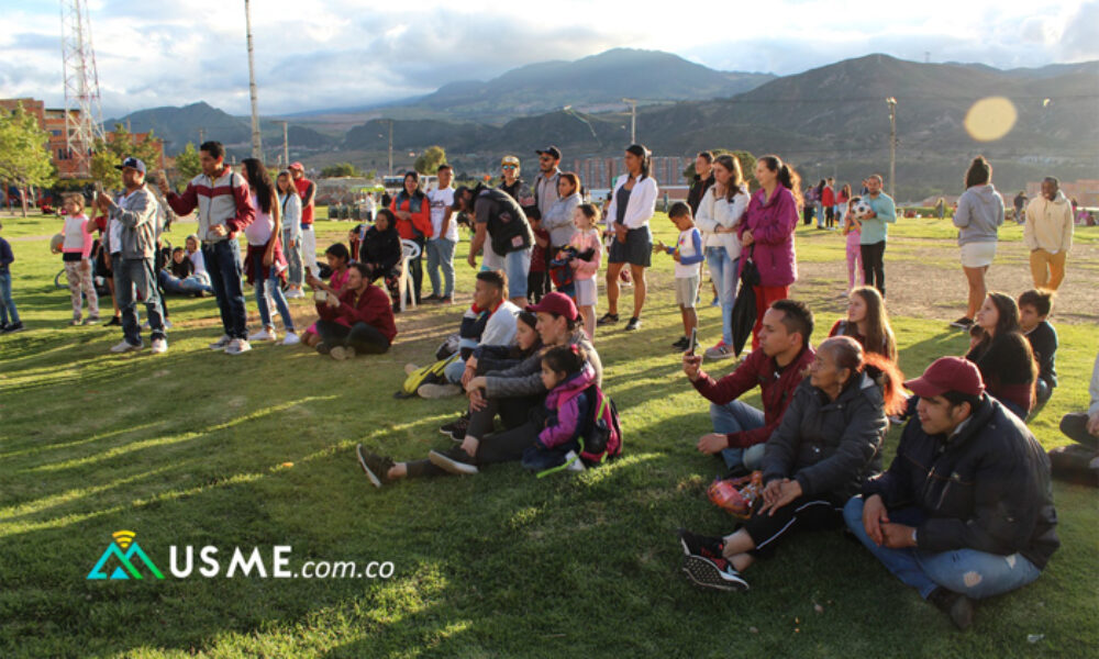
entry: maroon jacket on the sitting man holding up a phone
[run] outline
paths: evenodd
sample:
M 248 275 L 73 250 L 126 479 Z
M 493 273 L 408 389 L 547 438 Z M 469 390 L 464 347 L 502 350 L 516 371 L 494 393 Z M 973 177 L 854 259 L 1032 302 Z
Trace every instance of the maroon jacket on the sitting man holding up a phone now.
M 699 373 L 701 377 L 692 384 L 708 401 L 719 405 L 740 398 L 756 386 L 759 387 L 763 399 L 763 427 L 729 435 L 730 448 L 747 448 L 770 438 L 770 434 L 778 427 L 786 409 L 793 400 L 793 390 L 801 383 L 802 371 L 809 368 L 815 356 L 813 349 L 807 347 L 778 373 L 776 372 L 778 365 L 775 364 L 774 357 L 768 357 L 762 349 L 752 350 L 747 359 L 724 378 L 714 382 L 708 373 L 701 372 Z

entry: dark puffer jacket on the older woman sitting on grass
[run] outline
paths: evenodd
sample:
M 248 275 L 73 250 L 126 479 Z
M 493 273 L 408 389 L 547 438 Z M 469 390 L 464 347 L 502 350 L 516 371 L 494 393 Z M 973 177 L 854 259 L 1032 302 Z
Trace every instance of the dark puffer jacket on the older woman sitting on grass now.
M 797 480 L 804 496 L 843 505 L 881 471 L 889 427 L 881 389 L 867 375 L 853 378 L 834 401 L 802 380 L 767 440 L 763 480 Z

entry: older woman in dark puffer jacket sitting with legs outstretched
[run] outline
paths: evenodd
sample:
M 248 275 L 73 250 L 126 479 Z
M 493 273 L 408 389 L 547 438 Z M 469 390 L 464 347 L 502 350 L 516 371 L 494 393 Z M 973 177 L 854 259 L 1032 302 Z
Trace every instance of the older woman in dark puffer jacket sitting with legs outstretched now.
M 817 350 L 763 458 L 752 516 L 724 538 L 679 532 L 684 572 L 703 588 L 747 590 L 741 572 L 790 532 L 843 527 L 843 505 L 881 471 L 887 413 L 904 404 L 896 365 L 850 336 Z

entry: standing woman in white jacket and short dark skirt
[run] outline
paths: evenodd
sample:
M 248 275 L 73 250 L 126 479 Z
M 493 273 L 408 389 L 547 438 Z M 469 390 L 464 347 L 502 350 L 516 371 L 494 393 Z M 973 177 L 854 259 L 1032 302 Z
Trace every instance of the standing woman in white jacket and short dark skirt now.
M 645 306 L 647 283 L 645 270 L 653 263 L 653 234 L 648 223 L 656 212 L 659 189 L 650 176 L 653 155 L 644 145 L 625 149 L 625 176 L 614 187 L 607 222 L 613 236 L 607 254 L 607 313 L 598 325 L 618 323 L 619 273 L 629 264 L 633 281 L 633 315 L 625 324 L 628 332 L 641 327 L 641 311 Z

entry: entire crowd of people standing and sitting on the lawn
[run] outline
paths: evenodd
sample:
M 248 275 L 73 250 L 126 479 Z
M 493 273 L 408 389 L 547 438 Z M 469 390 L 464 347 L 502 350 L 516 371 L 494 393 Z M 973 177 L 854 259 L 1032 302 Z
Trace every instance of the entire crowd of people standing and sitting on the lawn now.
M 1017 300 L 985 290 L 1003 217 L 987 160 L 970 164 L 954 217 L 969 282 L 968 311 L 954 325 L 969 331 L 970 348 L 964 356 L 942 356 L 906 381 L 898 368 L 903 346 L 885 298 L 887 225 L 897 215 L 880 176 L 865 179 L 862 198 L 846 187 L 836 197 L 829 185 L 824 192 L 831 194 L 806 200 L 798 174 L 777 156 L 757 160 L 758 188 L 750 191 L 735 156 L 703 152 L 688 202 L 669 208 L 675 245 L 664 245 L 652 235 L 658 187 L 647 148 L 626 149 L 625 174 L 602 209 L 584 203 L 576 174 L 559 170 L 559 149 L 537 155 L 533 186 L 522 179 L 515 156 L 502 159 L 498 188 L 454 189 L 445 165 L 433 190 L 421 188 L 417 172 L 407 174 L 389 208 L 351 232 L 351 249 L 343 243 L 325 248 L 323 267 L 312 226 L 315 187 L 299 164 L 274 180 L 252 158 L 235 171 L 222 145 L 209 142 L 200 149 L 202 172 L 181 193 L 162 172 L 157 196 L 146 183 L 145 164 L 125 158 L 119 165 L 125 191 L 99 194 L 95 220 L 84 213 L 80 196 L 66 197 L 63 206 L 56 250 L 70 287 L 71 324 L 98 322 L 99 273 L 112 283 L 119 319 L 113 324 L 123 330 L 112 353 L 143 348 L 137 302 L 147 310 L 152 351 L 167 350 L 165 294 L 212 294 L 224 334 L 210 347 L 230 355 L 249 351 L 253 343 L 275 343 L 276 313 L 282 345 L 301 343 L 337 360 L 386 353 L 406 303 L 454 301 L 462 214 L 473 231 L 466 261 L 477 269 L 471 304 L 451 317 L 457 332 L 429 368 L 433 379 L 417 381 L 409 393 L 464 394 L 464 410 L 440 428 L 443 448 L 397 461 L 358 445 L 357 460 L 378 488 L 407 478 L 476 474 L 502 462 L 539 474 L 581 472 L 615 458 L 623 446 L 617 409 L 602 390 L 596 328 L 618 323 L 625 283 L 634 304 L 624 331 L 641 326 L 652 255 L 666 254 L 675 261 L 684 326 L 673 348 L 682 353 L 682 370 L 708 402 L 711 420 L 712 432 L 696 447 L 720 458 L 728 479 L 751 485 L 736 491 L 744 520 L 732 533 L 679 532 L 687 579 L 744 590 L 748 566 L 797 541 L 799 532 L 846 530 L 965 628 L 976 601 L 1039 577 L 1058 539 L 1050 457 L 1026 421 L 1058 384 L 1057 334 L 1050 323 L 1054 293 L 1036 288 Z M 1028 213 L 1028 222 L 1037 223 L 1028 245 L 1048 253 L 1032 259 L 1035 280 L 1050 266 L 1059 284 L 1070 230 L 1068 237 L 1056 233 L 1064 202 L 1055 179 L 1047 179 L 1043 194 L 1046 202 Z M 790 299 L 798 280 L 793 235 L 799 219 L 811 217 L 801 209 L 812 203 L 825 206 L 822 227 L 843 227 L 848 263 L 846 315 L 815 348 L 812 310 Z M 198 215 L 197 232 L 167 249 L 165 204 Z M 243 259 L 238 237 L 247 245 Z M 604 253 L 609 305 L 597 321 L 596 275 Z M 429 297 L 421 295 L 424 256 Z M 856 286 L 858 259 L 867 286 Z M 13 263 L 10 244 L 0 238 L 0 327 L 9 333 L 23 330 L 11 293 Z M 721 337 L 696 350 L 702 264 L 720 308 Z M 245 282 L 254 287 L 259 312 L 260 327 L 251 334 Z M 304 287 L 312 291 L 317 321 L 299 332 L 303 319 L 293 317 L 288 299 L 303 297 Z M 739 362 L 722 378 L 703 369 L 704 360 L 734 357 Z M 417 365 L 406 368 L 409 378 L 423 372 Z M 742 400 L 757 388 L 762 409 Z M 1077 480 L 1090 474 L 1095 481 L 1099 472 L 1099 358 L 1091 398 L 1087 413 L 1062 423 L 1080 447 L 1058 450 L 1054 460 L 1058 472 Z M 700 402 L 685 414 L 702 409 Z M 882 469 L 891 424 L 903 427 L 896 457 Z

